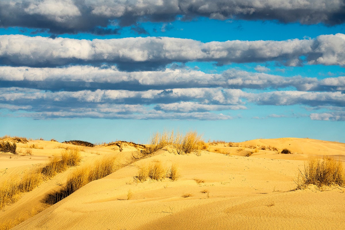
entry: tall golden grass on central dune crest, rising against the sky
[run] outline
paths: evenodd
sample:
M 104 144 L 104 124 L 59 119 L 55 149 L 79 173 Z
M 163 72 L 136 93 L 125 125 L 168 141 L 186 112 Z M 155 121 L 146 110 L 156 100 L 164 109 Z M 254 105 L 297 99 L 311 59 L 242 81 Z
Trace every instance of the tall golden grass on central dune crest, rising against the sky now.
M 149 146 L 142 152 L 144 154 L 151 154 L 167 145 L 174 147 L 178 154 L 186 154 L 197 152 L 200 149 L 207 149 L 205 142 L 197 132 L 189 131 L 185 136 L 182 136 L 179 132 L 175 134 L 174 131 L 171 131 L 170 134 L 168 132 L 163 132 L 162 134 L 156 133 L 155 136 L 151 138 Z

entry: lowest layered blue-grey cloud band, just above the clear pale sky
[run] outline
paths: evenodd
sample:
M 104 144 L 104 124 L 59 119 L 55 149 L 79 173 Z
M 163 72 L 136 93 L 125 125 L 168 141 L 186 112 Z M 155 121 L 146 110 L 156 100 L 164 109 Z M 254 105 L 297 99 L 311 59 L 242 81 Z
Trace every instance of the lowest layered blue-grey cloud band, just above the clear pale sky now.
M 35 118 L 92 117 L 133 119 L 231 119 L 223 111 L 244 110 L 247 104 L 345 107 L 341 92 L 244 92 L 224 88 L 175 88 L 165 90 L 45 91 L 0 88 L 0 108 L 22 110 Z M 223 112 L 223 113 L 221 113 Z M 328 119 L 341 120 L 335 111 Z M 15 112 L 16 114 L 21 113 Z M 59 115 L 60 114 L 60 115 Z M 327 113 L 328 114 L 328 113 Z M 40 117 L 41 116 L 41 117 Z M 340 117 L 336 117 L 340 116 Z M 272 116 L 271 116 L 272 117 Z M 326 119 L 312 113 L 311 119 Z

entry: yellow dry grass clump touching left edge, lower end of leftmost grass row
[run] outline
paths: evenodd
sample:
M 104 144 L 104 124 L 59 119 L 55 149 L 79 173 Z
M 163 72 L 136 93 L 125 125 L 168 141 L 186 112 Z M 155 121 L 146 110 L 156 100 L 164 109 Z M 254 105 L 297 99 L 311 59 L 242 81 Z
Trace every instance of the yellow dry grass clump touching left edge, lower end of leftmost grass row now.
M 21 192 L 29 192 L 42 182 L 42 175 L 38 172 L 28 172 L 21 179 L 12 178 L 0 184 L 0 209 L 16 202 Z

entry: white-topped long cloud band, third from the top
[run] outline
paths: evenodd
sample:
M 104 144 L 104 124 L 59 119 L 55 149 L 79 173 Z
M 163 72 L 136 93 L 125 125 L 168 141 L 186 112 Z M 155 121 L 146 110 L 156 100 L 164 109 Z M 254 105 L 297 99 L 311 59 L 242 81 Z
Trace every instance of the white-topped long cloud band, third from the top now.
M 309 77 L 282 77 L 274 74 L 228 69 L 223 73 L 205 73 L 179 68 L 162 71 L 119 71 L 116 66 L 69 66 L 31 68 L 0 66 L 3 87 L 30 87 L 51 91 L 113 89 L 140 91 L 171 88 L 284 89 L 299 91 L 343 91 L 345 77 L 318 80 Z

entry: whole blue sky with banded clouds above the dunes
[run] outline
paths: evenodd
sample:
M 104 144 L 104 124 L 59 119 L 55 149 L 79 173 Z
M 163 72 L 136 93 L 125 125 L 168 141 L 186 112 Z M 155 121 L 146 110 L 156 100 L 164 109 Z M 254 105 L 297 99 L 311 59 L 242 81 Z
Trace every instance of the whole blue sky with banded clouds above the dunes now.
M 345 142 L 344 0 L 1 0 L 0 136 Z

